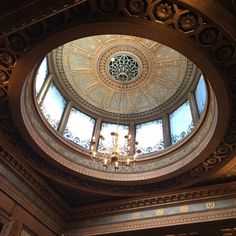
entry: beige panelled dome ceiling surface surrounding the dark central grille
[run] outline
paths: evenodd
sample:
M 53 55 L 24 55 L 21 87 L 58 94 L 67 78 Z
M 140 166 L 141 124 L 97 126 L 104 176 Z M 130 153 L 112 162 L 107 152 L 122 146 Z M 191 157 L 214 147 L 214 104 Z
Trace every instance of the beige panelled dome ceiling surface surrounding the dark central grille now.
M 136 80 L 125 84 L 114 81 L 108 71 L 111 58 L 123 54 L 139 63 Z M 60 55 L 66 80 L 79 97 L 106 112 L 123 114 L 146 112 L 170 99 L 188 63 L 167 46 L 125 35 L 78 39 L 63 45 Z

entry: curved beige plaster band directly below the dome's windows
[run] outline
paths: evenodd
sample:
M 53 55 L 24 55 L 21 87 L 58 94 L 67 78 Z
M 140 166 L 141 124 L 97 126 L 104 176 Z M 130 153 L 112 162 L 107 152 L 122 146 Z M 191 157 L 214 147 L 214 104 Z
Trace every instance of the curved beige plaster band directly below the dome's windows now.
M 211 94 L 209 99 L 212 101 L 209 106 L 207 118 L 204 121 L 204 125 L 196 127 L 195 132 L 181 145 L 181 148 L 174 147 L 174 149 L 167 153 L 161 153 L 158 158 L 153 158 L 152 161 L 146 162 L 145 165 L 142 162 L 137 162 L 129 169 L 122 169 L 122 175 L 120 173 L 110 172 L 112 167 L 104 170 L 100 163 L 93 162 L 90 158 L 84 158 L 84 153 L 77 152 L 73 149 L 68 149 L 62 145 L 63 139 L 55 136 L 50 132 L 45 132 L 44 126 L 42 126 L 40 119 L 35 119 L 34 103 L 30 98 L 31 91 L 30 86 L 27 86 L 28 90 L 26 94 L 26 111 L 28 118 L 27 127 L 31 129 L 31 136 L 35 140 L 38 146 L 40 146 L 44 152 L 46 152 L 52 159 L 61 163 L 69 169 L 92 176 L 98 179 L 116 180 L 116 181 L 136 181 L 145 179 L 154 179 L 160 176 L 170 174 L 175 170 L 181 169 L 183 166 L 189 164 L 195 158 L 198 157 L 200 149 L 204 149 L 210 138 L 212 137 L 215 129 L 215 102 L 214 96 Z M 209 91 L 210 92 L 210 91 Z M 67 144 L 68 145 L 68 144 Z M 201 147 L 201 148 L 198 148 Z M 158 171 L 157 171 L 158 170 Z M 142 173 L 140 175 L 140 173 Z

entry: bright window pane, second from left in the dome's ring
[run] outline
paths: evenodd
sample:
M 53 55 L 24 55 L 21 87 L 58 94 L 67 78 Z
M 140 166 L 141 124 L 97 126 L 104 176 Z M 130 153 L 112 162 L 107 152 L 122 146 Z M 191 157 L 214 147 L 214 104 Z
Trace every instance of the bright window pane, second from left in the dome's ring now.
M 58 128 L 62 113 L 66 105 L 65 99 L 52 83 L 41 105 L 41 110 L 47 121 L 54 129 Z

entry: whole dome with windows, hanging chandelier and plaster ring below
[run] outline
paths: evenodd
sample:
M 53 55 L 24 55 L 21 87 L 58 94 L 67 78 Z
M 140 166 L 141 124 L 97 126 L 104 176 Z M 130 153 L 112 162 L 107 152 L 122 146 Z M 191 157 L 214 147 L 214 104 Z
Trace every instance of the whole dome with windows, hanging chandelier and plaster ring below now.
M 52 134 L 28 104 L 26 110 L 57 162 L 100 179 L 155 179 L 197 157 L 192 151 L 214 126 L 212 102 L 199 127 L 214 97 L 206 87 L 200 70 L 172 48 L 135 36 L 97 35 L 60 46 L 39 67 L 36 108 Z

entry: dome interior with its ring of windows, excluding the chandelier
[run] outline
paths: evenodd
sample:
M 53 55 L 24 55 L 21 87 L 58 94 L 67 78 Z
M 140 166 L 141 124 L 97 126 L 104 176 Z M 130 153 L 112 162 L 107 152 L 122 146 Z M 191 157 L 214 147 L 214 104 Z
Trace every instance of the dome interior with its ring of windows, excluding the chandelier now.
M 200 70 L 182 54 L 128 35 L 91 36 L 56 48 L 35 79 L 37 103 L 54 131 L 85 152 L 96 140 L 92 148 L 99 153 L 112 152 L 110 134 L 117 131 L 122 156 L 124 136 L 131 146 L 138 143 L 140 157 L 186 140 L 204 113 L 206 92 Z

